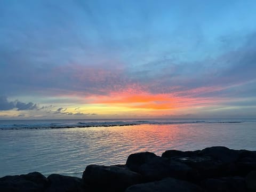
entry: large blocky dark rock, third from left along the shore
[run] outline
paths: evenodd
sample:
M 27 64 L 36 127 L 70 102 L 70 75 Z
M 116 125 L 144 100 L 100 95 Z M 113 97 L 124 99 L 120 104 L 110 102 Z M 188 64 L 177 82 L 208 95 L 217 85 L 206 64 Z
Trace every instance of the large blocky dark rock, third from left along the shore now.
M 124 191 L 141 181 L 140 174 L 122 166 L 89 165 L 83 173 L 83 182 L 93 191 Z

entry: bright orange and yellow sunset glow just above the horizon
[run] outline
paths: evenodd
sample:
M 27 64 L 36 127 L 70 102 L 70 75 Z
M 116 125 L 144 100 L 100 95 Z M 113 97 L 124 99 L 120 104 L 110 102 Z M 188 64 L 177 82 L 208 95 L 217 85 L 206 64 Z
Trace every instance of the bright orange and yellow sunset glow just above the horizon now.
M 218 89 L 218 87 L 213 87 L 213 89 Z M 65 94 L 62 97 L 74 98 L 76 95 L 79 104 L 74 102 L 66 105 L 68 108 L 66 112 L 73 114 L 98 114 L 102 117 L 135 117 L 137 115 L 137 117 L 162 117 L 196 113 L 203 108 L 209 108 L 215 106 L 216 103 L 228 100 L 216 97 L 198 97 L 196 94 L 210 90 L 210 88 L 202 88 L 154 94 L 130 87 L 125 91 L 110 92 L 108 95 L 82 96 L 82 92 L 73 92 L 73 94 Z

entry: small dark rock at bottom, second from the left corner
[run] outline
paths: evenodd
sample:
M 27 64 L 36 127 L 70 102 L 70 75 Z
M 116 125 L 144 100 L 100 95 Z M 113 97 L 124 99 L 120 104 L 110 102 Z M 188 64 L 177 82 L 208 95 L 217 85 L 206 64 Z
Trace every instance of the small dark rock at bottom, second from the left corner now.
M 51 174 L 47 177 L 50 186 L 45 192 L 75 192 L 83 191 L 82 179 L 59 174 Z

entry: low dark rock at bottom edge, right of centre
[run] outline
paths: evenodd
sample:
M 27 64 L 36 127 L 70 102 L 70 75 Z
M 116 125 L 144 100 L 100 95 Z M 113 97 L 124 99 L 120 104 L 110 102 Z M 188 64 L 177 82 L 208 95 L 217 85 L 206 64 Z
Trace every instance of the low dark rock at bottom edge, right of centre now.
M 133 185 L 125 190 L 125 192 L 201 192 L 203 191 L 200 187 L 182 180 L 173 178 L 165 178 L 161 181 L 142 183 Z

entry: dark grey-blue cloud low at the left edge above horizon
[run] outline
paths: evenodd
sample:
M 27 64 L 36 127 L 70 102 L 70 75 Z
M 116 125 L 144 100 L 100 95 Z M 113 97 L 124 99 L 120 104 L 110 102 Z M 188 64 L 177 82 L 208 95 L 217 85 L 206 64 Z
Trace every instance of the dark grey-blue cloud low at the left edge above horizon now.
M 17 108 L 17 110 L 36 110 L 38 105 L 33 102 L 24 103 L 18 100 L 9 102 L 6 97 L 0 97 L 0 110 L 11 110 L 14 108 Z

